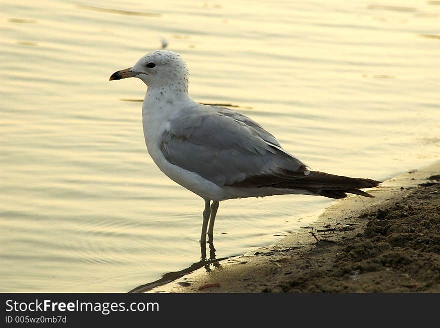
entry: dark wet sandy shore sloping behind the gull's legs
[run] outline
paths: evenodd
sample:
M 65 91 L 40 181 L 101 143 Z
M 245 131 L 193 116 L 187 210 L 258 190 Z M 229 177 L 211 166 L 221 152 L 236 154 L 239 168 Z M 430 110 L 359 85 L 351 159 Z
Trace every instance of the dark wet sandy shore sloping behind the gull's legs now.
M 387 180 L 375 198 L 344 198 L 274 245 L 148 292 L 440 292 L 438 174 L 440 162 Z

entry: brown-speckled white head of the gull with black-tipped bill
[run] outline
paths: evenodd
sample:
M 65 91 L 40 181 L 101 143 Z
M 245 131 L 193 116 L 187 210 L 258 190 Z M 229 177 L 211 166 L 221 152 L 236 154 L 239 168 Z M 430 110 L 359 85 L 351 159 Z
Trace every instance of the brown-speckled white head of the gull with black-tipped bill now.
M 188 92 L 188 70 L 179 54 L 155 50 L 140 58 L 133 67 L 114 72 L 110 81 L 136 77 L 149 88 L 163 86 Z

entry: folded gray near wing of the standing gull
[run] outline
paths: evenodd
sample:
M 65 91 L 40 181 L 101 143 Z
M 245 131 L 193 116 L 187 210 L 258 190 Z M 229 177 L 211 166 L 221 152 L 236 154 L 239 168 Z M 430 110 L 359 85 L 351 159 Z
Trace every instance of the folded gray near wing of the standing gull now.
M 271 185 L 307 173 L 256 122 L 225 108 L 199 106 L 172 119 L 163 133 L 160 149 L 170 163 L 220 186 Z

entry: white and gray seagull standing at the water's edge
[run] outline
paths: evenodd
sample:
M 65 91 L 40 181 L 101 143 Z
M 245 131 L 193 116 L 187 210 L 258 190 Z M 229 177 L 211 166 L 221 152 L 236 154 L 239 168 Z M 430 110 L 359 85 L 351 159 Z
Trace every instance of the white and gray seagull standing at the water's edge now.
M 212 240 L 219 202 L 283 194 L 344 198 L 381 181 L 312 171 L 247 116 L 203 105 L 188 95 L 188 70 L 179 54 L 152 51 L 109 81 L 138 78 L 146 148 L 171 180 L 204 200 L 200 243 Z M 208 227 L 209 222 L 209 227 Z

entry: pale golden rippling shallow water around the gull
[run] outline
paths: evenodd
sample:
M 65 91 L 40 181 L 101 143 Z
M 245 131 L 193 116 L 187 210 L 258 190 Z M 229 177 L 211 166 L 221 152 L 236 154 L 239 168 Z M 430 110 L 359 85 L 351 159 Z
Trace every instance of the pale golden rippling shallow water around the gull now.
M 197 262 L 203 201 L 149 158 L 137 79 L 160 48 L 313 169 L 386 179 L 438 159 L 437 2 L 3 1 L 0 291 L 127 291 Z M 217 257 L 331 200 L 222 202 Z

